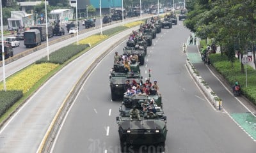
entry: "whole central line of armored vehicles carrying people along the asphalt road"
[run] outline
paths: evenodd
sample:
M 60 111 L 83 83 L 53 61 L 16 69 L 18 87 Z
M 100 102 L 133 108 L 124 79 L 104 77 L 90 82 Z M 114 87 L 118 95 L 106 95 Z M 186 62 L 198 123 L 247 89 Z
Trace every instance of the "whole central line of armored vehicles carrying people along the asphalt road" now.
M 156 20 L 153 22 L 155 26 L 147 21 L 139 31 L 132 31 L 123 55 L 116 53 L 115 64 L 109 75 L 111 99 L 123 99 L 116 117 L 121 152 L 129 152 L 131 147 L 141 145 L 154 146 L 157 152 L 164 152 L 168 130 L 162 97 L 154 85 L 147 87 L 148 92 L 143 91 L 146 84 L 141 84 L 143 77 L 139 66 L 144 64 L 147 47 L 152 45 L 152 39 L 156 38 L 156 33 L 161 33 L 162 23 Z M 138 61 L 134 57 L 138 57 Z M 125 65 L 127 61 L 129 68 Z M 136 90 L 138 85 L 143 88 L 141 92 Z

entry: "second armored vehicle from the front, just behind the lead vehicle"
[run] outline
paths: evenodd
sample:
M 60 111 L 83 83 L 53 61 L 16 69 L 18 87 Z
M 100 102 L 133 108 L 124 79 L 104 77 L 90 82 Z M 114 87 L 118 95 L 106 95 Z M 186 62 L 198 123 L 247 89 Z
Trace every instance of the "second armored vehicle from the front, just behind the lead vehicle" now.
M 123 98 L 125 91 L 125 82 L 126 80 L 135 80 L 139 82 L 142 77 L 140 75 L 140 66 L 138 63 L 131 64 L 131 71 L 128 71 L 124 64 L 114 64 L 110 75 L 110 90 L 111 90 L 111 99 L 115 101 L 118 98 Z

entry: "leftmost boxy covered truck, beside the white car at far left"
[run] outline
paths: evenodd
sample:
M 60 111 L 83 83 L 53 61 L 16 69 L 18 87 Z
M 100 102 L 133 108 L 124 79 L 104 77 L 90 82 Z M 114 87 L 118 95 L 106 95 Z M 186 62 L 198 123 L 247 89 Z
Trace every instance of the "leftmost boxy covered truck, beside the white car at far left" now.
M 37 47 L 41 45 L 41 34 L 38 29 L 30 29 L 24 32 L 24 45 L 28 47 Z

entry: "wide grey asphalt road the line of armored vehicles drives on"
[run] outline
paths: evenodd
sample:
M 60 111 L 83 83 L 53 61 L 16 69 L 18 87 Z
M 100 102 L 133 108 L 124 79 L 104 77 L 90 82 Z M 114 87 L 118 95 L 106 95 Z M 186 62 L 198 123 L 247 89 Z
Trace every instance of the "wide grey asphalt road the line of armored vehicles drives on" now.
M 163 96 L 163 110 L 168 120 L 166 152 L 254 153 L 253 139 L 237 126 L 228 112 L 215 110 L 189 75 L 184 66 L 187 55 L 181 52 L 181 44 L 188 36 L 189 31 L 182 22 L 172 29 L 163 29 L 154 45 L 148 48 L 145 65 L 141 66 L 143 78 L 147 78 L 148 69 L 152 69 L 151 80 L 157 80 Z M 61 124 L 51 152 L 120 152 L 115 119 L 121 101 L 111 101 L 108 75 L 114 52 L 122 54 L 124 45 L 125 42 L 106 56 L 86 80 Z M 211 82 L 216 84 L 211 88 L 222 93 L 223 101 L 230 98 L 225 96 L 227 91 L 218 85 L 216 78 L 211 78 Z M 239 110 L 228 104 L 224 108 L 237 113 L 246 111 L 239 103 Z M 131 152 L 154 152 L 154 148 L 131 148 Z

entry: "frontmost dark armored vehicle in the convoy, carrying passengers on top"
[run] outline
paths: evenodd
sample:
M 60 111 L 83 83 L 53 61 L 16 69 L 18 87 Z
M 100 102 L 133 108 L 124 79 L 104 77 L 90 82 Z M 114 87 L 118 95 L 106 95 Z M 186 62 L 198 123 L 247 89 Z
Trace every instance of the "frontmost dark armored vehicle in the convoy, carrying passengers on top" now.
M 157 99 L 157 102 L 154 99 Z M 121 151 L 131 146 L 155 146 L 157 152 L 164 152 L 167 135 L 166 116 L 158 96 L 124 96 L 116 117 Z M 158 104 L 157 104 L 158 103 Z

